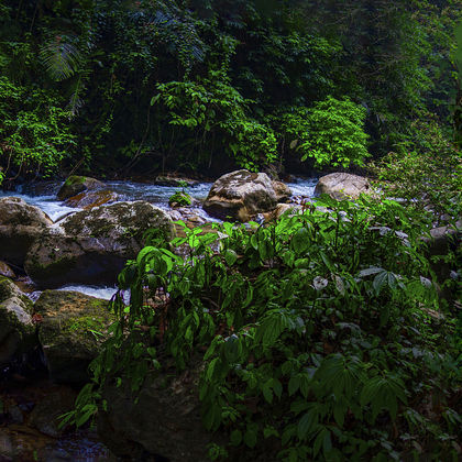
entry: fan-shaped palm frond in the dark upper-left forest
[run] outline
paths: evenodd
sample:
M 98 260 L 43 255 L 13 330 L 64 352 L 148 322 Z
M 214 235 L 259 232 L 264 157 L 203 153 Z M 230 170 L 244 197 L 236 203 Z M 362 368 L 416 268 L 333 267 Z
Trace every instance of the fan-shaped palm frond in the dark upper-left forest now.
M 50 77 L 57 81 L 72 77 L 82 61 L 79 50 L 61 36 L 42 46 L 40 57 Z

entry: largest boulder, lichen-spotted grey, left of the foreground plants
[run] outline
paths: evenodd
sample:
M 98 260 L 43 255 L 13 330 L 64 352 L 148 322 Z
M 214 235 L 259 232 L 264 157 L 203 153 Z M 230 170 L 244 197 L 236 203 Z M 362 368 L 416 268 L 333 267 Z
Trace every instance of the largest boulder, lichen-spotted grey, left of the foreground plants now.
M 114 284 L 127 260 L 144 246 L 143 235 L 156 229 L 174 233 L 168 215 L 148 202 L 118 202 L 66 217 L 28 253 L 25 271 L 41 287 L 64 284 Z

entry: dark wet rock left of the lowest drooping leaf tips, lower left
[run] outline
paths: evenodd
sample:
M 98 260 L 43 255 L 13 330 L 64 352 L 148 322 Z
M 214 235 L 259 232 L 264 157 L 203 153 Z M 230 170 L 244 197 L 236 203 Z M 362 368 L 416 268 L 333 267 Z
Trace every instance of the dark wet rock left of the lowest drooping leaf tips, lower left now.
M 59 416 L 74 409 L 77 392 L 59 388 L 44 396 L 32 410 L 29 425 L 48 437 L 58 438 L 64 429 L 59 428 Z

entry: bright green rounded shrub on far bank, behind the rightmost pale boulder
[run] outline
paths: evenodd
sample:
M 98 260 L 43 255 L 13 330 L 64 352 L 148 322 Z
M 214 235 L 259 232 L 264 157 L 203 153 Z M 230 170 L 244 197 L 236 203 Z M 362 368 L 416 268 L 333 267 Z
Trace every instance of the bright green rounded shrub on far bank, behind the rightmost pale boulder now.
M 363 125 L 366 110 L 349 99 L 329 97 L 312 108 L 294 108 L 280 118 L 282 132 L 301 160 L 316 165 L 363 165 L 369 156 Z

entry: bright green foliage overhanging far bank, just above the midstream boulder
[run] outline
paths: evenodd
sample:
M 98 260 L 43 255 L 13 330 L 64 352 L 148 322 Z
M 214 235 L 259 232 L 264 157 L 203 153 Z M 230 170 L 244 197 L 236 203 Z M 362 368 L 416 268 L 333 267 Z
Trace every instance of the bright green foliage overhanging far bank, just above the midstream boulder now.
M 274 133 L 246 114 L 251 101 L 245 100 L 221 72 L 211 72 L 199 82 L 160 84 L 157 91 L 152 105 L 162 103 L 168 110 L 169 124 L 196 133 L 187 138 L 199 153 L 207 150 L 211 140 L 220 139 L 241 167 L 257 170 L 275 161 Z

